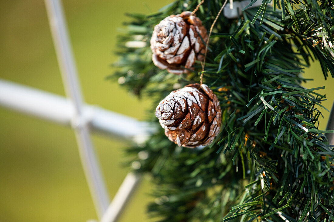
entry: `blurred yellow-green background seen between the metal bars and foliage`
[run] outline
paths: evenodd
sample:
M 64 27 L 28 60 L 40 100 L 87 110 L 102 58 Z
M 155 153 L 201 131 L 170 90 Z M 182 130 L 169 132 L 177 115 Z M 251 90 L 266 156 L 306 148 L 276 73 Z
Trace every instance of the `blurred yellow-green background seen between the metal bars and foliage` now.
M 126 12 L 148 13 L 170 3 L 154 0 L 66 0 L 64 9 L 81 86 L 89 104 L 143 120 L 149 101 L 138 101 L 117 83 L 105 80 L 113 70 L 117 28 Z M 0 1 L 0 78 L 64 95 L 42 0 Z M 304 75 L 308 88 L 326 86 L 331 108 L 333 79 L 324 80 L 318 64 Z M 324 129 L 329 113 L 320 122 Z M 74 133 L 35 117 L 0 108 L 0 221 L 87 221 L 96 218 L 81 168 Z M 110 197 L 128 168 L 128 144 L 93 135 Z M 152 184 L 144 180 L 123 213 L 122 222 L 150 221 L 145 214 Z

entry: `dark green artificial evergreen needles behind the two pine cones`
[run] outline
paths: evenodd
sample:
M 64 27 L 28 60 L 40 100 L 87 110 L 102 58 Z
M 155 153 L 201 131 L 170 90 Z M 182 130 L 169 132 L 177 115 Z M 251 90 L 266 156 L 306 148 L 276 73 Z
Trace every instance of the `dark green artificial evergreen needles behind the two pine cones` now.
M 322 87 L 301 86 L 303 68 L 314 59 L 325 78 L 334 77 L 333 4 L 269 2 L 245 7 L 237 19 L 220 15 L 213 29 L 203 83 L 222 108 L 215 141 L 181 148 L 161 128 L 144 146 L 128 150 L 148 153 L 132 156 L 137 171 L 154 178 L 157 199 L 149 212 L 161 221 L 334 221 L 334 150 L 323 134 L 328 131 L 317 125 L 325 96 L 317 92 Z M 150 95 L 156 105 L 175 87 L 199 82 L 200 63 L 194 73 L 169 74 L 154 66 L 149 48 L 156 24 L 197 4 L 176 1 L 157 13 L 131 14 L 119 38 L 121 68 L 112 78 L 122 77 L 130 91 Z M 208 30 L 222 4 L 206 0 L 196 12 Z M 134 40 L 147 46 L 126 47 Z

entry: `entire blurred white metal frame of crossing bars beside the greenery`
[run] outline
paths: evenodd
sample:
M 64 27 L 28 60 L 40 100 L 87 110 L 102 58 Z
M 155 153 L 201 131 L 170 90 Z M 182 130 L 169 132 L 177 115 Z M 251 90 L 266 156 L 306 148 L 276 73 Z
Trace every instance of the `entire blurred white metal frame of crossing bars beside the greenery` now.
M 52 39 L 67 98 L 0 79 L 0 105 L 70 125 L 75 131 L 81 164 L 101 222 L 115 222 L 140 182 L 129 173 L 110 203 L 90 137 L 91 129 L 143 142 L 155 131 L 145 122 L 84 103 L 60 0 L 45 0 Z

